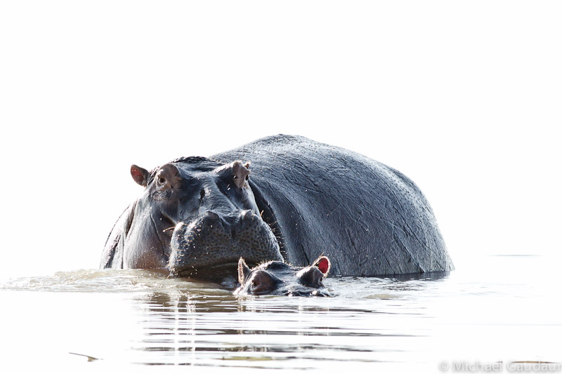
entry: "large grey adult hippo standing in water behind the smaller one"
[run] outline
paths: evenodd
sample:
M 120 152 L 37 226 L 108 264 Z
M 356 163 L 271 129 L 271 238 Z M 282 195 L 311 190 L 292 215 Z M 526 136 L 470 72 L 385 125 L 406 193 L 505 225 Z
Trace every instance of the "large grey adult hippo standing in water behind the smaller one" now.
M 306 266 L 325 254 L 339 275 L 453 269 L 414 182 L 346 149 L 275 135 L 131 175 L 145 191 L 113 227 L 102 268 L 223 281 L 240 257 Z

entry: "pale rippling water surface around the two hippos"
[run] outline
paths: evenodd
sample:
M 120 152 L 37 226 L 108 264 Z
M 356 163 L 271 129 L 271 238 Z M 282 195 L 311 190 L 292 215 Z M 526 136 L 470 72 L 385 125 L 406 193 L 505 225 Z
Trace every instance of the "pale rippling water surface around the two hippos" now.
M 34 354 L 57 362 L 93 356 L 83 364 L 94 366 L 436 371 L 452 359 L 560 361 L 549 344 L 562 333 L 559 282 L 532 272 L 539 260 L 486 258 L 476 274 L 329 277 L 333 298 L 237 298 L 155 272 L 81 270 L 0 284 L 1 300 L 18 305 L 4 308 L 0 327 L 13 347 L 40 345 Z

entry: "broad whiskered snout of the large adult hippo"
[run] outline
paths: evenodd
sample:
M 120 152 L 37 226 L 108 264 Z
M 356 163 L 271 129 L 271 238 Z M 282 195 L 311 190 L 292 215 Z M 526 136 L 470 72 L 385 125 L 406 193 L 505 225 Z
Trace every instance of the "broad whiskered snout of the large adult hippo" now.
M 179 222 L 171 238 L 169 270 L 175 276 L 214 278 L 233 275 L 240 254 L 252 263 L 282 260 L 270 227 L 247 209 L 232 215 L 207 211 L 193 222 Z M 217 267 L 221 267 L 218 269 Z

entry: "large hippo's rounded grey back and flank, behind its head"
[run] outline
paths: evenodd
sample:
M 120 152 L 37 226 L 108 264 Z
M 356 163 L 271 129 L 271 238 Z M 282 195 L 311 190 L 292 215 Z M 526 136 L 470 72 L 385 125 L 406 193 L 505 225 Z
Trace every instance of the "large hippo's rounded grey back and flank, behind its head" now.
M 264 218 L 274 221 L 268 223 L 294 265 L 310 265 L 325 254 L 332 274 L 340 275 L 453 268 L 425 196 L 383 163 L 290 135 L 256 140 L 211 159 L 251 161 L 256 201 Z

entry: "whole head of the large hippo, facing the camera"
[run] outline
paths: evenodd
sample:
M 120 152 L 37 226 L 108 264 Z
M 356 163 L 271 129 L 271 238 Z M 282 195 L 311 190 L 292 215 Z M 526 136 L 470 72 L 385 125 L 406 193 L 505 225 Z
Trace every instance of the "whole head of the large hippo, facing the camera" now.
M 177 276 L 215 280 L 226 268 L 235 274 L 241 255 L 252 264 L 282 260 L 248 185 L 249 173 L 249 163 L 221 165 L 202 157 L 150 172 L 131 166 L 145 192 L 129 213 L 125 267 L 160 267 Z

